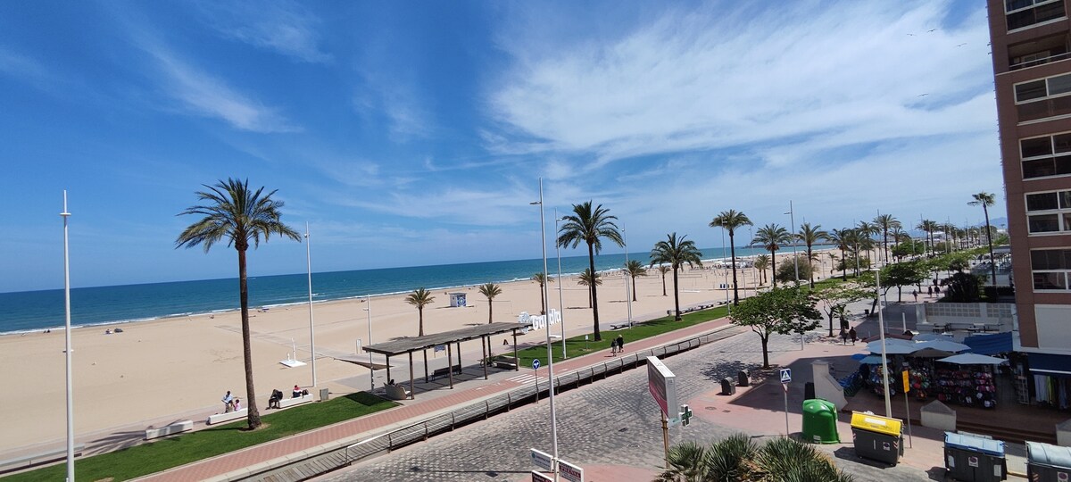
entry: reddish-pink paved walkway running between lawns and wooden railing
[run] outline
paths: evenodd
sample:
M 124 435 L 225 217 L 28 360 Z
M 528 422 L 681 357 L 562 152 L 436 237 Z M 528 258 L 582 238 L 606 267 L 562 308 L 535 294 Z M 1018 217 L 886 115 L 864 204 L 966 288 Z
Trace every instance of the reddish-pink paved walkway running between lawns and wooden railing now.
M 689 328 L 665 333 L 658 336 L 640 341 L 625 341 L 627 352 L 647 350 L 657 346 L 669 344 L 680 340 L 695 337 L 711 331 L 723 329 L 728 325 L 726 318 L 695 325 Z M 606 331 L 607 336 L 612 336 L 614 331 Z M 602 363 L 609 357 L 607 350 L 597 351 L 583 357 L 571 358 L 555 364 L 555 374 L 561 376 L 579 368 Z M 456 406 L 467 405 L 472 402 L 483 400 L 507 390 L 534 382 L 527 379 L 511 376 L 501 381 L 467 381 L 462 385 L 455 383 L 454 390 L 441 390 L 437 392 L 419 392 L 417 400 L 404 401 L 403 405 L 389 410 L 376 412 L 359 419 L 337 423 L 331 426 L 317 428 L 292 437 L 262 443 L 248 449 L 218 455 L 197 463 L 176 467 L 174 469 L 147 476 L 139 480 L 146 481 L 188 481 L 188 480 L 228 480 L 245 473 L 259 471 L 270 467 L 274 461 L 293 457 L 307 451 L 318 448 L 344 447 L 345 445 L 372 437 L 392 428 L 406 426 L 417 421 L 433 417 L 436 413 L 448 411 Z M 439 396 L 431 396 L 431 395 Z

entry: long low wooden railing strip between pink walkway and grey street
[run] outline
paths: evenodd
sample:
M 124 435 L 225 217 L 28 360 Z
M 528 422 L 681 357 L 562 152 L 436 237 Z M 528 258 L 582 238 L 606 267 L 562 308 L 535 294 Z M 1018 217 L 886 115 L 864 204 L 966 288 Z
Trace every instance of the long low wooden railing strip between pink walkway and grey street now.
M 659 358 L 672 357 L 708 343 L 727 338 L 738 333 L 737 330 L 733 330 L 731 328 L 733 326 L 720 327 L 714 331 L 695 337 L 657 346 L 648 350 L 636 351 L 609 361 L 563 373 L 554 379 L 554 386 L 557 389 L 555 393 L 593 383 L 595 380 L 605 379 L 609 375 L 643 366 L 647 364 L 647 357 L 649 356 Z M 547 394 L 547 390 L 549 390 L 548 383 L 540 383 L 538 390 L 534 383 L 525 385 L 458 407 L 447 413 L 431 417 L 401 428 L 365 438 L 346 447 L 328 449 L 321 453 L 310 454 L 306 458 L 291 460 L 285 465 L 232 480 L 268 480 L 269 478 L 273 481 L 304 480 L 316 475 L 336 470 L 356 462 L 389 453 L 419 441 L 425 441 L 431 437 L 452 432 L 461 426 L 487 420 L 495 415 L 508 412 L 515 407 L 533 403 L 538 398 L 544 397 Z

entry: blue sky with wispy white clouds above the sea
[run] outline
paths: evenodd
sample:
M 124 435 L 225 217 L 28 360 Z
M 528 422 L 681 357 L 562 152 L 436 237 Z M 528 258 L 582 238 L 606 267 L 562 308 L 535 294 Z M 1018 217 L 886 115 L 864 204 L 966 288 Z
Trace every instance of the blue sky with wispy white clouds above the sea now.
M 231 177 L 314 271 L 538 258 L 541 178 L 548 232 L 592 200 L 634 253 L 728 209 L 976 225 L 987 43 L 969 0 L 0 2 L 0 291 L 63 286 L 64 190 L 73 286 L 235 277 L 175 244 Z

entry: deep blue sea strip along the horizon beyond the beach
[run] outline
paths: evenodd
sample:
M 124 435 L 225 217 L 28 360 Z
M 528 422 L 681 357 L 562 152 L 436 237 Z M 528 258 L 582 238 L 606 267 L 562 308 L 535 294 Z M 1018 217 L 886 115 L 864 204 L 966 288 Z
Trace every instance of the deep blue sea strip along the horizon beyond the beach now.
M 700 251 L 705 261 L 727 259 L 723 258 L 721 247 Z M 738 258 L 766 253 L 761 247 L 737 247 L 736 251 Z M 649 255 L 649 252 L 630 253 L 628 257 L 646 265 Z M 619 270 L 624 261 L 623 253 L 599 255 L 595 256 L 595 270 Z M 557 258 L 547 258 L 552 277 L 558 272 L 557 265 Z M 562 275 L 576 274 L 587 268 L 587 256 L 561 258 Z M 532 274 L 542 271 L 543 259 L 538 258 L 313 273 L 313 301 L 389 296 L 420 287 L 441 290 L 530 280 Z M 250 277 L 248 288 L 251 308 L 308 302 L 307 273 Z M 0 292 L 0 334 L 62 328 L 63 305 L 62 289 Z M 239 310 L 237 276 L 71 289 L 73 328 L 184 318 L 235 310 Z

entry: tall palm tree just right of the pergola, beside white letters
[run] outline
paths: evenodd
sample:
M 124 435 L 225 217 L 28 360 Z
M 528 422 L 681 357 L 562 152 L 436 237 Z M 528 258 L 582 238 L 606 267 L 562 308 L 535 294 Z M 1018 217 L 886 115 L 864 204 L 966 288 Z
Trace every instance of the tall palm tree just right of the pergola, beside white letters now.
M 592 209 L 590 200 L 573 205 L 573 215 L 562 216 L 564 223 L 558 229 L 559 246 L 576 247 L 580 242 L 588 244 L 588 268 L 592 273 L 595 271 L 595 255 L 602 251 L 602 238 L 614 241 L 618 246 L 624 246 L 621 232 L 614 223 L 617 216 L 608 215 L 608 212 L 609 210 L 602 205 Z M 598 342 L 602 340 L 602 333 L 599 332 L 599 291 L 595 290 L 594 284 L 590 288 L 591 315 Z

